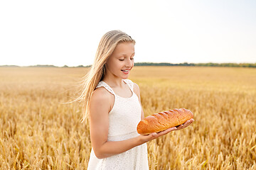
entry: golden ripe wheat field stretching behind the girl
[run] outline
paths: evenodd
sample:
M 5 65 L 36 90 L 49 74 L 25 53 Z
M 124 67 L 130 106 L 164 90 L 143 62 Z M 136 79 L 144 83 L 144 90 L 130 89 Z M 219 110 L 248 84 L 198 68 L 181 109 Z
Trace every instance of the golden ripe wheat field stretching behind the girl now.
M 0 67 L 0 169 L 87 169 L 77 96 L 88 68 Z M 195 121 L 147 143 L 150 169 L 256 169 L 256 69 L 134 67 L 145 115 L 188 108 Z

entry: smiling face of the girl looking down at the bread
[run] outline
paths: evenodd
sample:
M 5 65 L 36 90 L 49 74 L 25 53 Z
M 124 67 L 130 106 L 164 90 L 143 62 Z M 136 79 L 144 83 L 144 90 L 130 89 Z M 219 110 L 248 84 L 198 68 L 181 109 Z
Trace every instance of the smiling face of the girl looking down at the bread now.
M 119 43 L 107 60 L 106 74 L 127 79 L 132 67 L 134 67 L 134 44 L 132 42 Z

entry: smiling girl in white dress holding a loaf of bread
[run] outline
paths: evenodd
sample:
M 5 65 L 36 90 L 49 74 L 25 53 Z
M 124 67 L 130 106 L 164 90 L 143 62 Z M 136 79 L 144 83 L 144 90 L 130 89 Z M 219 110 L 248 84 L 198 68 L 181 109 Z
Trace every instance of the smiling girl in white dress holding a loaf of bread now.
M 146 142 L 193 122 L 150 135 L 137 133 L 144 113 L 139 86 L 127 79 L 134 67 L 134 45 L 135 40 L 120 30 L 106 33 L 85 77 L 83 120 L 90 120 L 92 142 L 89 170 L 149 169 Z

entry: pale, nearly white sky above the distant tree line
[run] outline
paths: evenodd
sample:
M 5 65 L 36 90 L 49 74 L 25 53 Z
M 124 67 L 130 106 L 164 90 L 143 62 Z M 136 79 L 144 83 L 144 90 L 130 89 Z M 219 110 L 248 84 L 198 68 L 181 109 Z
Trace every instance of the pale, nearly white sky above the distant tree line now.
M 256 1 L 0 1 L 0 65 L 90 65 L 102 35 L 134 62 L 256 63 Z

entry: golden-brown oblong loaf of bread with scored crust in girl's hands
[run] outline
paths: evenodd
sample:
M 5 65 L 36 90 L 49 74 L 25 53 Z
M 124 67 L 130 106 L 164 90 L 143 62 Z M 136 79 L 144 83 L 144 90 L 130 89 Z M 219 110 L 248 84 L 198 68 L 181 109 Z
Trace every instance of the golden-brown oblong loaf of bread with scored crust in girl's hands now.
M 141 135 L 161 132 L 168 128 L 181 125 L 191 118 L 193 118 L 193 113 L 186 108 L 155 113 L 139 122 L 137 132 Z

